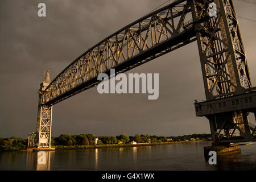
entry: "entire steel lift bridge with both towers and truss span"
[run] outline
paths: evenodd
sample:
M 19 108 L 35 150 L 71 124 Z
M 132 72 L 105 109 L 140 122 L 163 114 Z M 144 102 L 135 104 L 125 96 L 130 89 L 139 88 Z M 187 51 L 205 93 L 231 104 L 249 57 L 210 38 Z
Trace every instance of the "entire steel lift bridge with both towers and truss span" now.
M 217 16 L 209 16 L 209 3 Z M 232 0 L 176 0 L 123 27 L 77 57 L 39 89 L 36 133 L 28 147 L 51 146 L 52 106 L 100 81 L 110 69 L 126 72 L 197 41 L 207 101 L 195 101 L 196 115 L 207 117 L 213 143 L 256 141 L 248 114 L 256 113 L 256 88 L 247 64 Z

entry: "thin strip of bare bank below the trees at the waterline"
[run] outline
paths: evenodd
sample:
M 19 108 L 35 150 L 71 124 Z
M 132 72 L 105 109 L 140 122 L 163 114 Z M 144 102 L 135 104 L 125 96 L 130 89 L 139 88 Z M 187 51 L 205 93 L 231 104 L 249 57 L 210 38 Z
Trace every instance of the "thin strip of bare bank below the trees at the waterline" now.
M 155 142 L 155 143 L 137 143 L 137 144 L 101 144 L 94 146 L 52 146 L 55 150 L 85 150 L 89 148 L 114 148 L 114 147 L 140 147 L 140 146 L 156 146 L 161 144 L 181 144 L 192 142 L 210 142 L 207 140 L 195 140 L 195 141 L 179 141 L 179 142 Z

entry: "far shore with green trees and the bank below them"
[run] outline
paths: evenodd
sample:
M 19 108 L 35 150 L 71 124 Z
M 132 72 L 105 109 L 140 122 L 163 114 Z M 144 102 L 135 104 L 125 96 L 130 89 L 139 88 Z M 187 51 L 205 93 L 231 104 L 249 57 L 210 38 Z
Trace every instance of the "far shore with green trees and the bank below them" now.
M 96 136 L 93 134 L 61 134 L 59 137 L 51 137 L 51 148 L 31 148 L 28 147 L 28 139 L 11 137 L 0 138 L 1 151 L 39 151 L 39 150 L 83 150 L 86 148 L 108 148 L 108 147 L 138 147 L 154 146 L 159 144 L 179 144 L 190 142 L 202 142 L 211 139 L 211 135 L 191 134 L 177 137 L 164 137 L 156 135 L 135 134 L 127 136 L 121 134 L 117 136 Z M 133 141 L 133 142 L 131 142 Z M 34 141 L 35 142 L 35 141 Z M 46 147 L 49 147 L 48 145 Z

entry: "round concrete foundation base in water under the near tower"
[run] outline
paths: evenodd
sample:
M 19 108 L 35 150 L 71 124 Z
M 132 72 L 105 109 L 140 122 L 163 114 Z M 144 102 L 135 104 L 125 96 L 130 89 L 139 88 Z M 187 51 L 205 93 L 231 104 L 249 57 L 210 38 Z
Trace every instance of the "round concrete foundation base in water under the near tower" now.
M 216 151 L 217 156 L 241 154 L 240 146 L 238 144 L 229 144 L 223 146 L 204 146 L 205 160 L 208 160 L 210 158 L 210 151 Z

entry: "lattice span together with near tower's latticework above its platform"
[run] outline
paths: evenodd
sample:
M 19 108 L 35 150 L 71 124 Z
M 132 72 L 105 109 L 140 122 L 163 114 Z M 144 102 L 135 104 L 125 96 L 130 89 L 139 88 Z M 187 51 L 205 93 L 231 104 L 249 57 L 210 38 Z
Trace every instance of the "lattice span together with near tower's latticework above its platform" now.
M 42 104 L 56 104 L 97 85 L 97 75 L 109 73 L 111 68 L 125 72 L 191 43 L 195 34 L 207 100 L 243 93 L 243 88 L 252 85 L 233 3 L 215 0 L 218 15 L 210 18 L 211 2 L 179 0 L 110 35 L 49 84 Z

